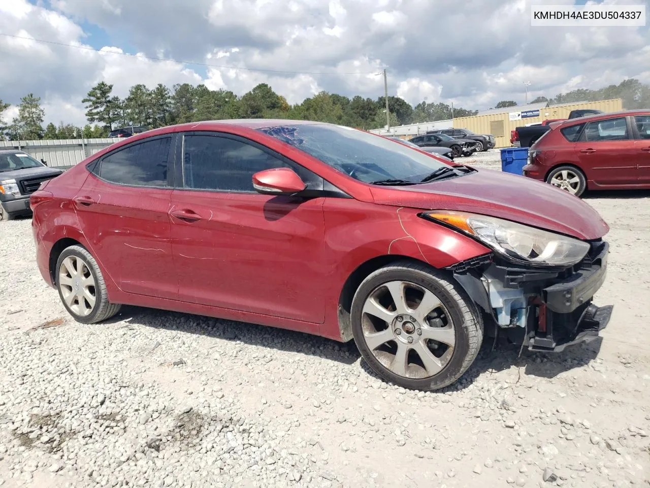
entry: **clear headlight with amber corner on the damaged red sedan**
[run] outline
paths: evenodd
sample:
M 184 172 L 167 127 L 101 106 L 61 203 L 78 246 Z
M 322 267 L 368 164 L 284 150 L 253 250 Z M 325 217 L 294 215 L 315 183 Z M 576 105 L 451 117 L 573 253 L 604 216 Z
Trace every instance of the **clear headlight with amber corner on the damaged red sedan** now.
M 584 241 L 523 224 L 456 211 L 432 211 L 424 215 L 475 237 L 495 252 L 517 262 L 569 267 L 590 249 Z

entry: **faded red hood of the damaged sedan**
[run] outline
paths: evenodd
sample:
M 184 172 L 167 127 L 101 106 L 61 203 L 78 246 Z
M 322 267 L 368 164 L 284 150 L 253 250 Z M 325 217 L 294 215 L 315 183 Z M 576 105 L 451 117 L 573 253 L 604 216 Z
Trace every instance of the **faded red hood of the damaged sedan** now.
M 578 239 L 598 239 L 609 226 L 580 198 L 547 183 L 481 169 L 422 185 L 372 187 L 382 205 L 482 213 Z

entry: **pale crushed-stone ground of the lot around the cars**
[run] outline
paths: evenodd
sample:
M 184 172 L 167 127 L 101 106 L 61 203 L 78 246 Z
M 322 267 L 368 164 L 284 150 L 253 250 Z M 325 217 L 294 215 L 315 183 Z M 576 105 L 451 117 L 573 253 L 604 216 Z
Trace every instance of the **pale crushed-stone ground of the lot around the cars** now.
M 650 192 L 585 200 L 611 228 L 602 341 L 484 344 L 427 393 L 380 381 L 352 342 L 135 307 L 75 323 L 31 219 L 2 222 L 0 486 L 650 485 Z

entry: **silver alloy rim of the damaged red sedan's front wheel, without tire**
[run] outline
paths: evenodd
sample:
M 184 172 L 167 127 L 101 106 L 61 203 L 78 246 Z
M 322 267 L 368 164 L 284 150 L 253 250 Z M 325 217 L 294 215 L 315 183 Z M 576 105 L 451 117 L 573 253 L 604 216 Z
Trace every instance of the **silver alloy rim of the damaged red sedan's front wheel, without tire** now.
M 441 372 L 456 344 L 454 324 L 440 299 L 408 281 L 387 282 L 370 293 L 361 329 L 372 355 L 385 368 L 412 379 Z

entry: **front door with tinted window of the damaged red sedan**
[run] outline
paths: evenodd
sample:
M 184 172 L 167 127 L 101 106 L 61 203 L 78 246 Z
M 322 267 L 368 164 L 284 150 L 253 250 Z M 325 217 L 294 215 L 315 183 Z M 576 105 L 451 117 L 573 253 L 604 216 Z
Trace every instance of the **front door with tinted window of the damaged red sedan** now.
M 222 133 L 186 133 L 181 151 L 170 211 L 180 299 L 322 323 L 324 198 L 261 195 L 252 183 L 276 167 L 307 182 L 307 170 Z

